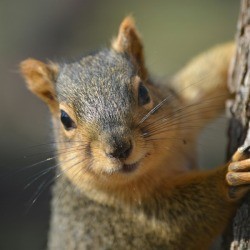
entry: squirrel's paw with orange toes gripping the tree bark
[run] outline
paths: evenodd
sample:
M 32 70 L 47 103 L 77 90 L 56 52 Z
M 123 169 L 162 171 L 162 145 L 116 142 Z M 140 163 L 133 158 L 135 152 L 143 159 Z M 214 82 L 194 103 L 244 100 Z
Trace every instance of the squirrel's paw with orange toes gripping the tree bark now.
M 230 198 L 240 199 L 250 189 L 250 146 L 240 147 L 228 166 L 226 181 L 230 186 Z

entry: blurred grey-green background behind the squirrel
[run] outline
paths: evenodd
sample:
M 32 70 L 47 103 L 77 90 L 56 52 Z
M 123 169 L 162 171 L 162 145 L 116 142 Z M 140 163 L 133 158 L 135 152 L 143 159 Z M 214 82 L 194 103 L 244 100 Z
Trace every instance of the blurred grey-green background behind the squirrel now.
M 132 14 L 149 69 L 166 77 L 197 53 L 232 40 L 238 10 L 235 0 L 0 1 L 1 250 L 46 248 L 50 187 L 43 184 L 53 173 L 36 178 L 55 165 L 28 167 L 53 156 L 53 138 L 49 112 L 25 88 L 19 62 L 71 58 L 109 45 L 123 17 Z M 226 121 L 220 118 L 200 138 L 201 165 L 222 163 L 225 145 Z

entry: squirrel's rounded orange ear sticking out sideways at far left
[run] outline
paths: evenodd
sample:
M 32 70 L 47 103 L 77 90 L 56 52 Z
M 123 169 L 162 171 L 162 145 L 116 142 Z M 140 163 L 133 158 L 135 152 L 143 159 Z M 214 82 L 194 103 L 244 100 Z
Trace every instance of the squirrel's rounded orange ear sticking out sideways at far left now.
M 29 58 L 20 63 L 20 70 L 29 90 L 47 103 L 52 113 L 57 112 L 59 105 L 54 83 L 58 74 L 58 66 Z

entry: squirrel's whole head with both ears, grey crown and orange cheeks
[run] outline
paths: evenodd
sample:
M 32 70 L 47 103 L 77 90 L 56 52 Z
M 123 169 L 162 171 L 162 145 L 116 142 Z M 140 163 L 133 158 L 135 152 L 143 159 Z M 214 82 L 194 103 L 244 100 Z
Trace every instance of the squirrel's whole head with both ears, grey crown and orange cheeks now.
M 132 183 L 162 160 L 151 159 L 156 149 L 147 140 L 147 123 L 156 118 L 140 122 L 160 100 L 131 17 L 109 49 L 63 64 L 27 59 L 20 68 L 53 114 L 61 168 L 76 185 Z

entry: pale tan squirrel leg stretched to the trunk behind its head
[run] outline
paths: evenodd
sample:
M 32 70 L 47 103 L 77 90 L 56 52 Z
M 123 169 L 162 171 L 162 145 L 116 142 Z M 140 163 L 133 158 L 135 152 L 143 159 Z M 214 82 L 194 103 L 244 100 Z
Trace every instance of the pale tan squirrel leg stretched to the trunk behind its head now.
M 200 128 L 222 113 L 231 96 L 227 81 L 234 53 L 233 42 L 216 46 L 195 57 L 172 79 L 172 88 L 183 107 L 193 110 L 192 119 Z

